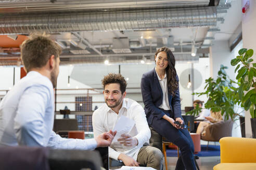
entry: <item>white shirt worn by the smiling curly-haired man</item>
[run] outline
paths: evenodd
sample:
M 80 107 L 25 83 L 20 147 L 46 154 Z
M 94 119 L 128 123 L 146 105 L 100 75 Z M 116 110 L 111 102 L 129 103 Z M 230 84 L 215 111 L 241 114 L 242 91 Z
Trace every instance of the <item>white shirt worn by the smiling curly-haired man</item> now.
M 139 149 L 142 148 L 145 143 L 149 144 L 151 133 L 144 109 L 136 101 L 124 98 L 118 114 L 109 108 L 106 103 L 95 110 L 93 113 L 94 137 L 103 132 L 112 130 L 120 116 L 125 116 L 135 121 L 135 126 L 130 132 L 130 135 L 138 139 L 138 145 L 129 149 L 121 149 L 120 147 L 111 145 L 111 147 L 109 147 L 109 157 L 118 160 L 119 154 L 124 153 L 125 155 L 133 157 L 134 160 L 137 160 Z

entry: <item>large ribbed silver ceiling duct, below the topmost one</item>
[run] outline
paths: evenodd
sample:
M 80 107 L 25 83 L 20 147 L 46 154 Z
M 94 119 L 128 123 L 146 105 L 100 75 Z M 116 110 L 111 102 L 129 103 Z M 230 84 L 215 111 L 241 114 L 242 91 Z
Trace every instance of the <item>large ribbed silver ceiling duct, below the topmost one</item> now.
M 216 7 L 2 14 L 0 34 L 215 26 L 216 18 Z

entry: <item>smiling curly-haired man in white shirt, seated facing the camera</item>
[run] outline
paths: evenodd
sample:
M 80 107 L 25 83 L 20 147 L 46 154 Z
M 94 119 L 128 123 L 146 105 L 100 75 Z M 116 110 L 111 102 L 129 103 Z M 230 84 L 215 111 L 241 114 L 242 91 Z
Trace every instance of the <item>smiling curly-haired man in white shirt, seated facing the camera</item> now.
M 149 166 L 162 169 L 162 152 L 155 147 L 146 146 L 149 144 L 151 133 L 143 107 L 129 98 L 124 98 L 127 86 L 124 77 L 120 74 L 108 74 L 102 84 L 105 104 L 93 113 L 94 136 L 112 130 L 121 116 L 134 120 L 136 129 L 129 134 L 122 134 L 118 139 L 120 144 L 129 147 L 128 149 L 111 144 L 110 166 Z

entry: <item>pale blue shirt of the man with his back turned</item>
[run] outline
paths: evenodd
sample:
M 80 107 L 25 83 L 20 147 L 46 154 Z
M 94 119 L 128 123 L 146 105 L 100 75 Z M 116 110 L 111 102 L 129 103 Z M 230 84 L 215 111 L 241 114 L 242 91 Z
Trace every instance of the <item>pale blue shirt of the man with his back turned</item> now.
M 29 72 L 0 103 L 0 146 L 95 149 L 95 139 L 61 138 L 53 132 L 54 91 L 49 78 Z

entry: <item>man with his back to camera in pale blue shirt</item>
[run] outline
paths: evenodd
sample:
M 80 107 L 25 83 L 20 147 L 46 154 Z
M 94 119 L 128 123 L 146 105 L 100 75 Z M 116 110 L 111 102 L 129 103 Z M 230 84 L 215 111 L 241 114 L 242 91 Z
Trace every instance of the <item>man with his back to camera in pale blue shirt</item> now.
M 116 132 L 95 139 L 61 138 L 53 131 L 54 88 L 59 74 L 61 48 L 46 35 L 31 35 L 21 46 L 28 73 L 0 103 L 0 146 L 39 146 L 92 150 L 109 146 Z

